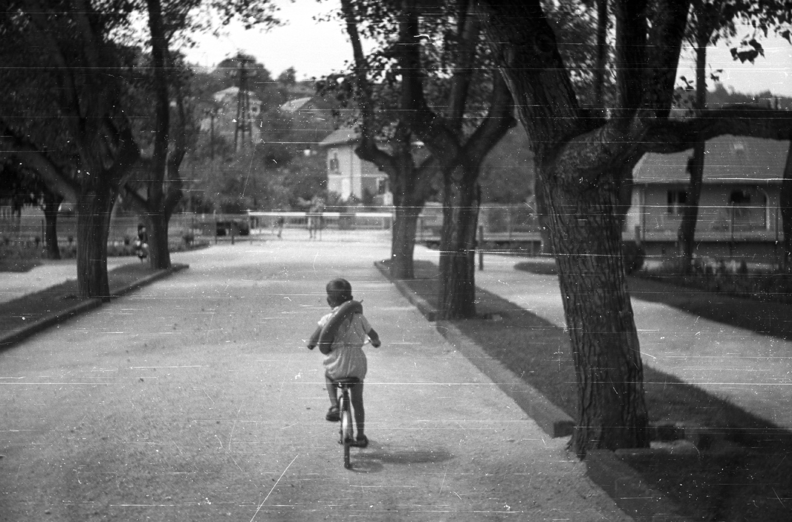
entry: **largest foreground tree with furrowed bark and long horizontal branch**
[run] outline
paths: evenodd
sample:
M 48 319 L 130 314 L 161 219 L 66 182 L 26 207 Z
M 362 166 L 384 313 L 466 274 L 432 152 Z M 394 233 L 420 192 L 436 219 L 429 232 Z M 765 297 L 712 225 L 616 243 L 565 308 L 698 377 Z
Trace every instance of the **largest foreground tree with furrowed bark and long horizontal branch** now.
M 539 0 L 480 0 L 535 154 L 577 375 L 577 455 L 649 443 L 642 360 L 620 251 L 619 187 L 647 151 L 685 151 L 715 135 L 788 139 L 790 114 L 731 107 L 671 120 L 688 0 L 613 2 L 611 118 L 581 109 Z M 650 8 L 650 9 L 649 9 Z M 649 24 L 651 19 L 651 24 Z

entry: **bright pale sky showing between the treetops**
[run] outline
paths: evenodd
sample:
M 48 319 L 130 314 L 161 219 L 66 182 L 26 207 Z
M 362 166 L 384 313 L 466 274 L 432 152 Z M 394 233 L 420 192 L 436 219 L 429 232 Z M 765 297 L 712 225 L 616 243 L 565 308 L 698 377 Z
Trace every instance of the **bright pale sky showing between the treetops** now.
M 268 31 L 246 31 L 240 25 L 230 25 L 227 34 L 196 37 L 198 45 L 187 52 L 192 63 L 212 67 L 236 51 L 255 56 L 277 78 L 287 67 L 295 67 L 297 78 L 322 76 L 344 68 L 352 59 L 343 25 L 338 21 L 316 22 L 314 17 L 340 10 L 338 0 L 275 0 L 280 6 L 278 17 L 287 22 Z M 735 62 L 725 44 L 707 49 L 710 70 L 722 69 L 721 82 L 741 93 L 760 93 L 770 90 L 776 95 L 792 97 L 792 45 L 781 38 L 763 41 L 765 57 L 756 63 Z M 695 78 L 690 52 L 683 54 L 677 76 Z

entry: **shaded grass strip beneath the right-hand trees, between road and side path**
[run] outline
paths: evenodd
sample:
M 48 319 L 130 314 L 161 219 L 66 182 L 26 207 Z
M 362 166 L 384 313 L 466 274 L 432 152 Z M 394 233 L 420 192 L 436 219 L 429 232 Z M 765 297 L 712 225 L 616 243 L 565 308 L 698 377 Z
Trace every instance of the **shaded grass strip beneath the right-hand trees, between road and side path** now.
M 520 265 L 529 272 L 554 273 L 554 264 L 542 261 Z M 415 261 L 415 275 L 416 279 L 404 283 L 437 307 L 437 266 Z M 643 291 L 672 293 L 668 288 Z M 455 321 L 455 326 L 577 419 L 569 334 L 482 288 L 476 288 L 476 307 L 478 318 Z M 792 512 L 792 444 L 784 436 L 786 430 L 646 364 L 644 389 L 650 421 L 698 425 L 708 434 L 723 437 L 710 448 L 706 444 L 699 450 L 688 447 L 683 454 L 624 455 L 653 489 L 675 501 L 694 520 L 788 520 Z

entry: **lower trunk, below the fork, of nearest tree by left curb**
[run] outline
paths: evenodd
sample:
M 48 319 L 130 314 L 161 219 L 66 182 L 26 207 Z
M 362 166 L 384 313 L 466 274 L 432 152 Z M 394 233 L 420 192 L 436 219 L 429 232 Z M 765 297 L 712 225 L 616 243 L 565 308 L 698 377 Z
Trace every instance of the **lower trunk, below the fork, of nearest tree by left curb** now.
M 115 191 L 100 184 L 77 201 L 77 284 L 80 297 L 109 300 L 107 234 Z

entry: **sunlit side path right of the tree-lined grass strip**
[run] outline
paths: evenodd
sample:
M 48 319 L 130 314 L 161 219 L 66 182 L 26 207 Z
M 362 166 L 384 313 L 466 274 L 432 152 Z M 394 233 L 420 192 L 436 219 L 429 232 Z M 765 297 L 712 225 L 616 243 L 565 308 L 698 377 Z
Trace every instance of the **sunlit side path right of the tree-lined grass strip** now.
M 417 259 L 436 262 L 417 247 Z M 514 269 L 519 257 L 485 256 L 476 284 L 565 327 L 558 277 Z M 792 342 L 632 298 L 644 364 L 792 429 Z M 750 302 L 747 302 L 748 306 Z

